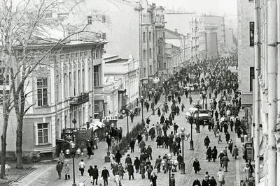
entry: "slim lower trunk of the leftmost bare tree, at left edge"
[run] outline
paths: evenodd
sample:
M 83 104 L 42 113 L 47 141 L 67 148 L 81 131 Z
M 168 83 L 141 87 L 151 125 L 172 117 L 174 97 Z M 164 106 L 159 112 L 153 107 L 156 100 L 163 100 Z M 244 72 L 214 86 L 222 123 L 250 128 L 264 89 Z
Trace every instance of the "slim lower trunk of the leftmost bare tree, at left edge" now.
M 8 111 L 5 107 L 3 107 L 3 132 L 1 135 L 1 172 L 0 172 L 0 178 L 6 179 L 5 176 L 5 165 L 6 165 L 6 137 L 7 137 L 7 127 L 8 127 L 8 114 L 6 114 Z

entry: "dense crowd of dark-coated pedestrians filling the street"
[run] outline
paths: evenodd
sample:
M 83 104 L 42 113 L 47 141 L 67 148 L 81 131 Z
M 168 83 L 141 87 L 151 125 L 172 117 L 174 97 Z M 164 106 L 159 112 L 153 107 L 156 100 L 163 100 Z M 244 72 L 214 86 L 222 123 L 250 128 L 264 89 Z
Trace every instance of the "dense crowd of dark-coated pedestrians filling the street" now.
M 200 98 L 204 99 L 209 95 L 208 99 L 210 99 L 211 102 L 209 105 L 207 105 L 206 102 L 203 107 L 209 110 L 211 120 L 208 123 L 208 130 L 213 132 L 213 134 L 210 133 L 211 137 L 208 135 L 204 139 L 206 160 L 208 161 L 207 163 L 219 160 L 218 165 L 223 168 L 223 171 L 221 168 L 218 168 L 217 174 L 214 176 L 209 176 L 209 173 L 206 172 L 201 181 L 199 178 L 195 178 L 193 186 L 225 185 L 228 162 L 239 159 L 239 148 L 237 148 L 237 144 L 234 144 L 230 135 L 236 133 L 237 137 L 241 137 L 241 134 L 246 134 L 244 117 L 241 119 L 239 118 L 241 98 L 238 92 L 237 75 L 228 70 L 228 67 L 230 65 L 235 65 L 236 61 L 237 56 L 235 55 L 200 61 L 200 63 L 195 65 L 188 65 L 187 68 L 183 68 L 180 72 L 170 76 L 169 79 L 164 82 L 162 86 L 163 90 L 157 90 L 155 96 L 157 102 L 160 99 L 161 93 L 163 93 L 166 98 L 165 103 L 157 111 L 158 122 L 151 123 L 151 119 L 146 118 L 146 130 L 144 130 L 144 132 L 139 132 L 137 137 L 133 137 L 130 141 L 130 153 L 135 153 L 134 148 L 138 146 L 136 153 L 139 153 L 139 157 L 135 156 L 134 160 L 132 160 L 130 154 L 127 154 L 125 161 L 121 162 L 123 155 L 121 155 L 120 150 L 118 150 L 116 154 L 111 151 L 109 155 L 111 162 L 110 169 L 113 173 L 116 186 L 122 184 L 126 173 L 129 180 L 134 180 L 134 174 L 139 173 L 142 179 L 148 178 L 152 186 L 157 185 L 157 174 L 167 173 L 167 153 L 157 155 L 157 157 L 153 156 L 153 148 L 151 145 L 146 145 L 148 137 L 151 137 L 151 141 L 155 143 L 156 148 L 169 149 L 169 153 L 175 157 L 176 163 L 172 166 L 172 175 L 169 183 L 169 185 L 175 185 L 175 173 L 177 169 L 181 169 L 183 157 L 181 155 L 182 139 L 178 131 L 179 125 L 174 122 L 174 118 L 180 115 L 185 109 L 185 105 L 181 102 L 182 96 L 186 95 L 190 104 L 193 102 L 193 92 L 184 88 L 188 84 L 197 85 L 194 91 L 197 91 Z M 151 100 L 150 93 L 148 94 L 148 99 Z M 148 111 L 150 107 L 148 101 L 145 102 L 145 107 Z M 152 109 L 154 108 L 153 104 Z M 140 107 L 137 107 L 134 112 L 130 114 L 132 123 L 134 116 L 140 115 L 139 110 L 141 110 Z M 121 128 L 113 128 L 113 130 L 108 132 L 106 135 L 108 150 L 112 150 L 115 142 L 121 139 L 121 133 Z M 224 136 L 225 139 L 223 139 L 222 136 Z M 211 146 L 211 141 L 213 139 L 217 139 L 218 144 L 225 144 L 225 148 L 223 148 L 220 153 L 218 153 L 217 146 Z M 242 157 L 246 159 L 246 150 L 244 150 L 244 148 L 242 148 L 242 153 Z M 230 155 L 232 155 L 232 158 Z M 63 162 L 60 161 L 57 164 L 57 171 L 60 170 L 60 166 Z M 85 169 L 83 161 L 79 163 L 79 168 L 83 176 Z M 65 169 L 66 168 L 64 168 L 64 171 Z M 201 171 L 201 164 L 198 158 L 195 158 L 193 161 L 193 169 L 195 173 Z M 67 170 L 65 171 L 65 175 L 67 175 L 65 178 L 68 178 L 69 174 L 66 172 Z M 97 166 L 95 165 L 94 168 L 90 166 L 87 172 L 92 180 L 92 184 L 97 184 L 99 178 Z M 244 173 L 246 173 L 246 179 L 251 178 L 253 173 L 251 162 L 248 162 L 244 167 Z M 102 170 L 101 177 L 104 180 L 104 185 L 108 185 L 109 171 L 106 167 Z

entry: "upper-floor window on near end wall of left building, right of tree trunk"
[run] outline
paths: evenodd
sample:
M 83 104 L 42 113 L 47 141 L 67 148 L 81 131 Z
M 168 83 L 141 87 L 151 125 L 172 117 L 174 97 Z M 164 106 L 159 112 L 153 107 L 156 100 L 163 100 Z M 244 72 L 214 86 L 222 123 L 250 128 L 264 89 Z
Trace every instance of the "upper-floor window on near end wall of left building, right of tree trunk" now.
M 48 105 L 48 79 L 47 78 L 37 79 L 37 100 L 38 100 L 38 106 Z

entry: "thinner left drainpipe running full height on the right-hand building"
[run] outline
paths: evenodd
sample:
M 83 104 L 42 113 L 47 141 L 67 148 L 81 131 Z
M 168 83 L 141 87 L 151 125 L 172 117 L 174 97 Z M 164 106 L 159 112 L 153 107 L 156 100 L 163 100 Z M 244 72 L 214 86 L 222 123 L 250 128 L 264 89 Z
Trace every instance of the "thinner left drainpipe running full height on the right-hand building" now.
M 260 182 L 260 37 L 259 37 L 259 0 L 255 0 L 255 184 Z

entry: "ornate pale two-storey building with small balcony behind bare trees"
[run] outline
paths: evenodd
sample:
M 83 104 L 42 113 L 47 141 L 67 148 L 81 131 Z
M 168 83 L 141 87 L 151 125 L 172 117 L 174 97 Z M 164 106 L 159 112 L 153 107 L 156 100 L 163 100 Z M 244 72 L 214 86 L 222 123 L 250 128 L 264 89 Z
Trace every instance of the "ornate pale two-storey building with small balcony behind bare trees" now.
M 24 157 L 29 153 L 55 155 L 56 139 L 61 139 L 63 129 L 78 128 L 90 121 L 94 114 L 94 87 L 102 80 L 96 69 L 102 68 L 105 44 L 71 40 L 62 45 L 58 54 L 49 54 L 31 73 L 26 84 L 30 93 L 25 107 L 31 108 L 23 123 Z M 31 47 L 40 50 L 50 45 Z M 12 111 L 7 132 L 11 156 L 15 152 L 15 118 Z M 72 123 L 74 118 L 76 123 Z

